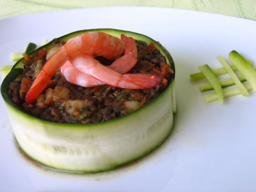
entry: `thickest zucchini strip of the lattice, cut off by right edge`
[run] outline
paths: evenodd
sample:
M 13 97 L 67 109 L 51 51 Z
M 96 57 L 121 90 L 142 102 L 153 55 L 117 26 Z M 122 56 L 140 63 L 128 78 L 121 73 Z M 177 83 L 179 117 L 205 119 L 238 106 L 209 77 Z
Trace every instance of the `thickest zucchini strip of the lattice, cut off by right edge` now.
M 256 92 L 256 71 L 253 67 L 235 50 L 229 53 L 229 60 L 236 65 L 245 79 L 250 83 L 254 92 Z

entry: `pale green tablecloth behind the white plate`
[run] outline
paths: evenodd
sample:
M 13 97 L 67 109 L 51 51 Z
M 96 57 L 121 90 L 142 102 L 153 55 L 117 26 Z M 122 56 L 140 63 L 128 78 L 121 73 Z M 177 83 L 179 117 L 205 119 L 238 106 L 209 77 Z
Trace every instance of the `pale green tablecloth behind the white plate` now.
M 0 19 L 22 14 L 100 6 L 155 6 L 256 20 L 255 0 L 0 0 Z

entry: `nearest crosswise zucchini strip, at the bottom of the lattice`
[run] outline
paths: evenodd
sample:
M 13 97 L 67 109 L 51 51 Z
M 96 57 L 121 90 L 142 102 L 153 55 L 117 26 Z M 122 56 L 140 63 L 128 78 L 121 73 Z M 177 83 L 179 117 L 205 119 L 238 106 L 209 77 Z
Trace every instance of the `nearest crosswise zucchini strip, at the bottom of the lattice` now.
M 252 90 L 252 86 L 249 83 L 244 84 L 244 87 L 247 89 L 247 91 Z M 241 91 L 237 87 L 230 88 L 230 89 L 223 89 L 224 98 L 239 95 L 239 94 L 241 94 Z M 218 96 L 216 93 L 205 95 L 206 103 L 210 103 L 217 100 L 218 100 Z

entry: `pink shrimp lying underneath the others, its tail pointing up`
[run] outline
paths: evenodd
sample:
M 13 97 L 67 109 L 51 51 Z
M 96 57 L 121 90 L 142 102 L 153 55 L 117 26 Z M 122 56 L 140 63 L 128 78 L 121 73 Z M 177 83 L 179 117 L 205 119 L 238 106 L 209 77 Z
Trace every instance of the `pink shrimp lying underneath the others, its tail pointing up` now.
M 124 56 L 115 60 L 114 63 L 109 65 L 112 70 L 116 71 L 120 74 L 125 74 L 129 72 L 132 67 L 137 63 L 137 47 L 134 39 L 132 37 L 126 37 L 125 35 L 121 35 L 121 40 L 125 44 L 124 48 Z M 67 61 L 61 68 L 61 72 L 65 76 L 66 80 L 82 86 L 82 87 L 95 87 L 104 85 L 101 81 L 93 78 L 91 75 L 86 73 L 82 73 L 77 68 L 75 68 L 70 61 Z

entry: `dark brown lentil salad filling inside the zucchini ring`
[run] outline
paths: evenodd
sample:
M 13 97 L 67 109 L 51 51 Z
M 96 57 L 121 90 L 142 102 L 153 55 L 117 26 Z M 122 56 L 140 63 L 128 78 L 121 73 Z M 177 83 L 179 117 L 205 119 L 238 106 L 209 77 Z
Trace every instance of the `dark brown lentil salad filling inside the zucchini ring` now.
M 9 86 L 12 101 L 34 117 L 59 123 L 88 124 L 124 116 L 152 101 L 168 87 L 174 73 L 158 49 L 135 41 L 138 50 L 138 62 L 129 73 L 149 73 L 163 78 L 154 88 L 122 89 L 109 85 L 85 88 L 66 81 L 61 72 L 52 76 L 47 88 L 31 104 L 25 102 L 25 96 L 36 75 L 46 63 L 47 52 L 42 49 L 32 57 L 25 57 L 21 78 Z M 65 42 L 55 41 L 62 46 Z M 95 57 L 103 65 L 112 60 Z

